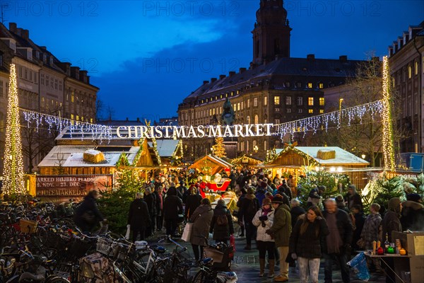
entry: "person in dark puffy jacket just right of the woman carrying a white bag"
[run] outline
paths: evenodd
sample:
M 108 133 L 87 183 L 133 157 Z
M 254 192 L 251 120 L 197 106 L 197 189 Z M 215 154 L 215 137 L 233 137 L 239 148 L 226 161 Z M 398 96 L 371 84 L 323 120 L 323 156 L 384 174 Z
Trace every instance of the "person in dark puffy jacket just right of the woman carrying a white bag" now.
M 234 233 L 231 212 L 225 206 L 224 200 L 218 200 L 218 204 L 216 204 L 215 209 L 213 209 L 209 232 L 213 233 L 213 240 L 215 240 L 216 243 L 224 242 L 227 245 L 230 236 Z

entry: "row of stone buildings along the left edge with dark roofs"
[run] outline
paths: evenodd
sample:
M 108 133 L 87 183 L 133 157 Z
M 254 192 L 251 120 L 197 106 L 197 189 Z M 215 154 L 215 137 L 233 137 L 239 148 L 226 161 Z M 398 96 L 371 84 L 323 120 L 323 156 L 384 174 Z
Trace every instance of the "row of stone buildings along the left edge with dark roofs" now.
M 0 23 L 0 175 L 3 172 L 6 112 L 10 64 L 16 64 L 20 108 L 76 121 L 95 122 L 95 101 L 99 88 L 90 84 L 87 71 L 60 62 L 46 47 L 30 39 L 28 30 Z M 23 121 L 21 121 L 22 124 Z M 25 123 L 25 125 L 27 125 Z M 54 145 L 34 129 L 22 128 L 24 170 L 37 164 Z

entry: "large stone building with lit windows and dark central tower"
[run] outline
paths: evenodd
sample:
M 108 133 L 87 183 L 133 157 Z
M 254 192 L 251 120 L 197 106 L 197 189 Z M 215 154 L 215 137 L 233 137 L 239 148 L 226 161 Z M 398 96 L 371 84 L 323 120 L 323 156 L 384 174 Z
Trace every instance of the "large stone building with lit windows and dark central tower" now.
M 280 124 L 324 113 L 324 88 L 338 86 L 355 76 L 357 60 L 290 57 L 290 28 L 283 1 L 260 1 L 254 23 L 253 59 L 249 69 L 204 81 L 178 107 L 180 126 L 216 125 L 225 98 L 235 111 L 235 124 Z M 302 144 L 302 141 L 298 141 Z M 212 139 L 185 141 L 188 159 L 195 159 L 213 145 Z M 237 138 L 239 154 L 265 156 L 281 146 L 278 137 Z

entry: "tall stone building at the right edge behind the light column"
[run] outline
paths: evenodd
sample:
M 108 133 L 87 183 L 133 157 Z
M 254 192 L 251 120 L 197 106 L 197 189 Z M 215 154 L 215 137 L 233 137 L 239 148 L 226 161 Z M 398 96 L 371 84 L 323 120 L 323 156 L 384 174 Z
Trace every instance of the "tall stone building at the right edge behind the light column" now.
M 401 152 L 424 152 L 424 21 L 389 46 L 392 83 L 400 99 Z

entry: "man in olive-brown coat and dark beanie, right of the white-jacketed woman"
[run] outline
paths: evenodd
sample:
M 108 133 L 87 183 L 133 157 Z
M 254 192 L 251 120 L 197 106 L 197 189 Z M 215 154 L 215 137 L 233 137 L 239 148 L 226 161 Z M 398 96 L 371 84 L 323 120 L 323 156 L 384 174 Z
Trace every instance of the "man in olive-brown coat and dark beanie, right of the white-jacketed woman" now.
M 274 277 L 276 282 L 288 281 L 288 262 L 285 262 L 285 258 L 288 255 L 292 226 L 290 207 L 286 203 L 288 203 L 287 197 L 278 194 L 273 197 L 271 201 L 272 207 L 275 209 L 273 224 L 270 229 L 266 230 L 266 233 L 274 238 L 280 255 L 280 274 Z

